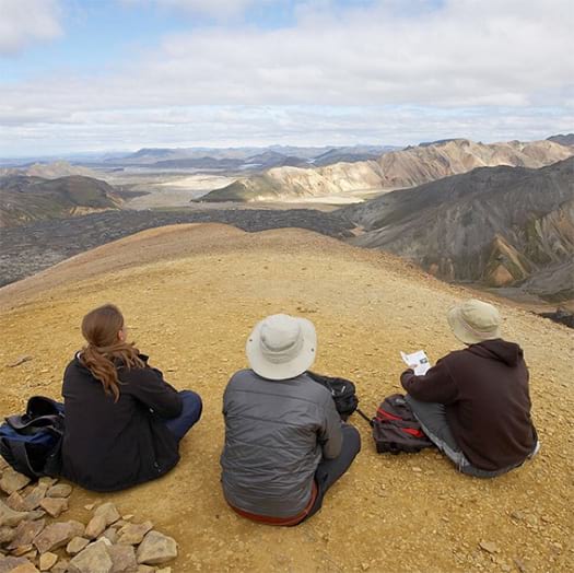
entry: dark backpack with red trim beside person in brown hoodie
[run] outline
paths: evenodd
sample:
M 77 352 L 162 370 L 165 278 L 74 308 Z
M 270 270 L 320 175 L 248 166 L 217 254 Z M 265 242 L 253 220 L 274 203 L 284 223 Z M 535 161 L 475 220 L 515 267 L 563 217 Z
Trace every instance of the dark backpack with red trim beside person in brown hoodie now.
M 414 454 L 425 447 L 434 447 L 402 394 L 393 394 L 385 398 L 377 408 L 375 418 L 371 420 L 363 412 L 359 413 L 373 428 L 378 454 Z

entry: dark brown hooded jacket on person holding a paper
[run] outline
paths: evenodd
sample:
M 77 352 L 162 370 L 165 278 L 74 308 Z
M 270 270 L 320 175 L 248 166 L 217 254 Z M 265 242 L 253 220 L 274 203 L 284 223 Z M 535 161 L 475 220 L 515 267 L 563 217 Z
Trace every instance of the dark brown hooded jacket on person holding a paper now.
M 523 350 L 502 339 L 450 352 L 424 376 L 400 378 L 417 400 L 445 405 L 455 440 L 470 463 L 497 470 L 526 459 L 536 444 Z

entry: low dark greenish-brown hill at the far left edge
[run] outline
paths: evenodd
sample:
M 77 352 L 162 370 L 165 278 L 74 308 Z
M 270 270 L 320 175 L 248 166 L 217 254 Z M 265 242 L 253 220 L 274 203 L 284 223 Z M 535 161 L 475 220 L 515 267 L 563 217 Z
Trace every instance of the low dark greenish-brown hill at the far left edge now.
M 119 209 L 120 204 L 113 187 L 91 177 L 0 177 L 0 226 Z

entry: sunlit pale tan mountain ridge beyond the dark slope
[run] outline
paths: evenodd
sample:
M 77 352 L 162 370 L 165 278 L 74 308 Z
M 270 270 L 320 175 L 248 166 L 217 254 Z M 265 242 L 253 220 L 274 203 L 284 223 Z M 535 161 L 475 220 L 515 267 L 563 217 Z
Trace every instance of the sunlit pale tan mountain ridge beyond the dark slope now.
M 406 148 L 376 161 L 336 163 L 319 168 L 280 167 L 239 178 L 202 201 L 289 201 L 364 190 L 413 187 L 476 167 L 541 167 L 574 155 L 574 148 L 553 141 L 475 143 L 452 139 Z

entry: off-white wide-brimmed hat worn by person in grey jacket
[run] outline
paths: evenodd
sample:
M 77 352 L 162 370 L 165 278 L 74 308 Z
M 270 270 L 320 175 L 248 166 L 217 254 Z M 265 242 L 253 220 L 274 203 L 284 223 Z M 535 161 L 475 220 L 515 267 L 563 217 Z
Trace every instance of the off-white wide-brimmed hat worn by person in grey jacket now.
M 251 370 L 272 381 L 303 374 L 315 362 L 317 334 L 311 320 L 276 314 L 256 325 L 245 346 Z

